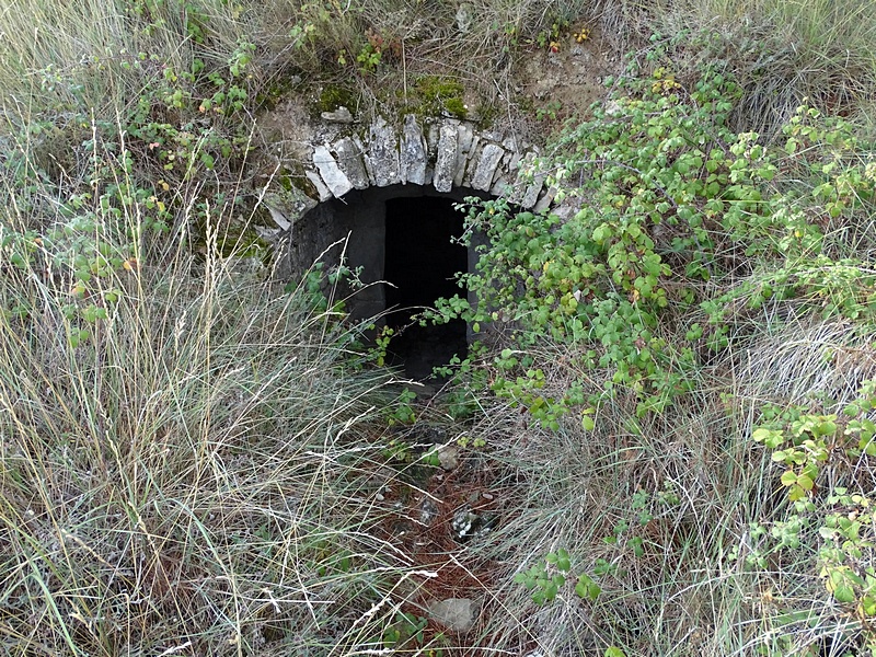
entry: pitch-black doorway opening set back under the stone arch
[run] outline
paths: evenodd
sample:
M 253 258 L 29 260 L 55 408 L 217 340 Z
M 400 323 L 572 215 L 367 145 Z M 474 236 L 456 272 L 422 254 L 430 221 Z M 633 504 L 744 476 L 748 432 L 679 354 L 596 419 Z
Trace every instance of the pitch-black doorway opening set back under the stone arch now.
M 420 326 L 411 320 L 440 297 L 464 295 L 457 277 L 468 272 L 469 253 L 452 241 L 463 232 L 463 215 L 453 203 L 437 196 L 387 200 L 385 321 L 396 332 L 388 360 L 416 380 L 448 365 L 453 355 L 464 358 L 468 349 L 464 321 Z

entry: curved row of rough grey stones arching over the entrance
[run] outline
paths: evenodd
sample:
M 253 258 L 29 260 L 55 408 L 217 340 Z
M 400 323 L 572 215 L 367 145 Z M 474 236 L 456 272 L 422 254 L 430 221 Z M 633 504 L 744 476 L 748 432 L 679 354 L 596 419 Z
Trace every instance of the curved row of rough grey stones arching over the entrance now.
M 367 194 L 388 198 L 374 191 L 448 195 L 457 201 L 471 195 L 504 197 L 534 211 L 553 201 L 555 189 L 544 187 L 544 174 L 535 166 L 538 146 L 514 134 L 482 130 L 457 118 L 420 122 L 414 114 L 404 116 L 401 125 L 378 117 L 356 129 L 349 113 L 330 116 L 335 115 L 334 122 L 313 128 L 298 149 L 288 168 L 297 170 L 290 176 L 297 182 L 287 185 L 288 194 L 264 195 L 277 228 L 263 229 L 263 235 L 287 243 L 281 276 L 300 273 L 349 233 L 356 222 L 345 206 L 361 204 Z

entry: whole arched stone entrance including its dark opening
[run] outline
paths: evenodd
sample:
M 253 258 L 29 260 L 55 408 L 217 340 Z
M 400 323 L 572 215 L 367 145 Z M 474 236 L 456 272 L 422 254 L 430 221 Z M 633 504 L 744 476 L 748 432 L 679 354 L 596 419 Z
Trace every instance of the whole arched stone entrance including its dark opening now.
M 538 171 L 537 147 L 459 119 L 422 125 L 407 115 L 401 126 L 382 118 L 365 130 L 334 126 L 322 139 L 314 138 L 308 153 L 296 175 L 297 205 L 265 198 L 287 238 L 290 276 L 318 258 L 331 267 L 343 257 L 349 267 L 361 267 L 366 285 L 347 304 L 351 315 L 383 314 L 399 327 L 410 324 L 415 309 L 460 293 L 453 275 L 474 268 L 474 250 L 451 244 L 462 231 L 462 215 L 452 204 L 466 196 L 505 197 L 538 211 L 554 195 Z M 449 358 L 465 347 L 464 324 L 441 334 L 410 327 L 406 335 L 420 346 L 436 343 L 434 357 L 422 367 L 411 366 L 416 348 L 403 345 L 400 359 L 415 377 L 446 364 L 443 354 Z

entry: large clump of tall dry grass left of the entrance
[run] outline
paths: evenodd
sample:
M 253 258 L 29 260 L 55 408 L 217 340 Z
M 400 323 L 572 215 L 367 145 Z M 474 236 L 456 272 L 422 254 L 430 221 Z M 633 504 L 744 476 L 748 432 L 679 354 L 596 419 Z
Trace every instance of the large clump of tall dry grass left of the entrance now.
M 141 251 L 83 300 L 48 252 L 0 253 L 5 654 L 350 650 L 425 577 L 373 532 L 388 376 L 303 285 L 209 246 Z

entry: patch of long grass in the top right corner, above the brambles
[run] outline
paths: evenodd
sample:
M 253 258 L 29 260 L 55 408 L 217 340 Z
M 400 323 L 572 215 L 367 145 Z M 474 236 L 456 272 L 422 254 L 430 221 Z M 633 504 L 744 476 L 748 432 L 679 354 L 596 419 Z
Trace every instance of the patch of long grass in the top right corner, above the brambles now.
M 710 33 L 710 43 L 691 54 L 726 66 L 742 84 L 738 129 L 770 134 L 803 99 L 872 127 L 876 19 L 866 3 L 698 0 L 657 2 L 647 11 L 646 28 L 667 37 Z

